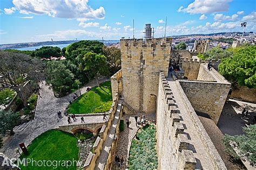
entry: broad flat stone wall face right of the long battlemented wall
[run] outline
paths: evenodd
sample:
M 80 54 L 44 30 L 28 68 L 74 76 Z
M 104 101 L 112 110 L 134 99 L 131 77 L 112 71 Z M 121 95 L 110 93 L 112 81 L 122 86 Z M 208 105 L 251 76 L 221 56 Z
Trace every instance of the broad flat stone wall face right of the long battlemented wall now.
M 217 124 L 231 84 L 185 80 L 179 83 L 194 110 L 208 114 Z

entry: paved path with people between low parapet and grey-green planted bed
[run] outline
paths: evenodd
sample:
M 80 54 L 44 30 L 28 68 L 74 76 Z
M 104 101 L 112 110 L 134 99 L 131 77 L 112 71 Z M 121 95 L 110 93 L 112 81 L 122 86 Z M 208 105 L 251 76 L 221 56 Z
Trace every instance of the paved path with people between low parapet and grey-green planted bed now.
M 130 151 L 132 139 L 139 129 L 139 126 L 136 126 L 136 121 L 135 121 L 134 117 L 135 117 L 135 115 L 130 115 L 130 114 L 124 115 L 122 117 L 122 120 L 124 120 L 125 128 L 124 128 L 123 132 L 119 133 L 115 156 L 120 157 L 122 155 L 124 158 L 124 163 L 122 164 L 121 167 L 119 167 L 119 166 L 115 165 L 113 162 L 112 169 L 126 169 L 128 166 L 129 151 Z M 148 121 L 156 120 L 155 113 L 145 114 L 145 117 Z M 129 125 L 129 128 L 126 125 L 127 120 L 129 120 L 131 122 L 131 124 Z

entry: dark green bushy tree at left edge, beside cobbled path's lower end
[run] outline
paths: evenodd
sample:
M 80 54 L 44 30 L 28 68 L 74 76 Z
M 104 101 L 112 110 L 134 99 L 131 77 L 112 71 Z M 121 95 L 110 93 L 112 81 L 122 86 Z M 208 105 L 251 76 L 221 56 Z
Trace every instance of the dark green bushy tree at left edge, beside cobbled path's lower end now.
M 0 131 L 2 134 L 10 131 L 10 134 L 14 135 L 14 127 L 18 124 L 19 120 L 17 112 L 0 110 Z

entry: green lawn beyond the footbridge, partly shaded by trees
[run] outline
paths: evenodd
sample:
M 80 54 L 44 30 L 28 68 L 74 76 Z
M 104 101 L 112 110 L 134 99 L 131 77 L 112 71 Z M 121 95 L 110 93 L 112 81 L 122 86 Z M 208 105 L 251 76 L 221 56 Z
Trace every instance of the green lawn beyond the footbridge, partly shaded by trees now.
M 68 113 L 85 114 L 109 111 L 112 105 L 111 82 L 106 81 L 100 85 L 101 88 L 93 87 L 69 105 Z

